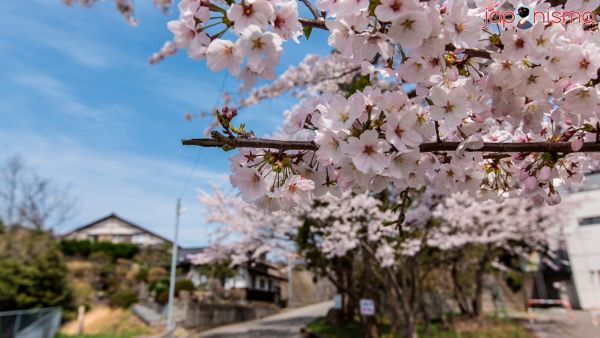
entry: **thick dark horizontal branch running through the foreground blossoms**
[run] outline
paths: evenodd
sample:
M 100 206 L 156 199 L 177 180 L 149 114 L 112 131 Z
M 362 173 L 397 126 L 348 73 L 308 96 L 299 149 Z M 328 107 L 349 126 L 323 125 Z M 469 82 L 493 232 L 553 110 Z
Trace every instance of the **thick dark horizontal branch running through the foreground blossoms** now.
M 215 135 L 215 133 L 213 133 Z M 280 141 L 269 139 L 246 139 L 246 138 L 227 138 L 219 133 L 217 138 L 212 139 L 190 139 L 183 140 L 183 145 L 193 145 L 200 147 L 223 147 L 232 148 L 265 148 L 277 150 L 312 150 L 316 151 L 319 146 L 311 141 Z M 458 148 L 458 142 L 434 142 L 423 143 L 419 149 L 423 153 L 439 151 L 455 151 Z M 477 150 L 485 153 L 574 153 L 571 144 L 568 142 L 530 142 L 530 143 L 485 143 L 483 148 Z M 584 143 L 578 152 L 600 152 L 600 143 Z M 502 156 L 504 157 L 504 156 Z

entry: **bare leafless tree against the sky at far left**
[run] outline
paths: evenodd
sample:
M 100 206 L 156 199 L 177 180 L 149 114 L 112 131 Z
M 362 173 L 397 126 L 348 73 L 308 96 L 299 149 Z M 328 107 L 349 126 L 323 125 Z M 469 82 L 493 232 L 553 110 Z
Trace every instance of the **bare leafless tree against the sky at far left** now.
M 34 229 L 61 225 L 75 209 L 69 190 L 56 186 L 13 156 L 0 169 L 0 219 Z

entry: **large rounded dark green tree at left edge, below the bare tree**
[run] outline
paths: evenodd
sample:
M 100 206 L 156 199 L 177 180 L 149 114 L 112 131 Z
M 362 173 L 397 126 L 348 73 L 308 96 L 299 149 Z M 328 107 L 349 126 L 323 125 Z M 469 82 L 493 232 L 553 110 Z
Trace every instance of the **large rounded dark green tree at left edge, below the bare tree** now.
M 41 230 L 12 226 L 0 235 L 0 310 L 72 307 L 58 243 Z

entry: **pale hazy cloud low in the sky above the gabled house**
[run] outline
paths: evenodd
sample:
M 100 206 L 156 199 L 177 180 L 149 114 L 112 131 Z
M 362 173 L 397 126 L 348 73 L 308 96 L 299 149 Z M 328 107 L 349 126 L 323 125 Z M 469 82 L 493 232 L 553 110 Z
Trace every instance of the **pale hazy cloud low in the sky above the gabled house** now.
M 79 201 L 78 212 L 59 232 L 116 212 L 172 237 L 175 199 L 189 182 L 184 198 L 188 213 L 182 219 L 182 243 L 197 245 L 206 241 L 206 226 L 193 196 L 194 187 L 208 188 L 209 183 L 223 182 L 224 172 L 204 167 L 205 161 L 200 161 L 188 180 L 192 169 L 189 163 L 116 150 L 102 152 L 60 135 L 3 132 L 0 144 L 5 156 L 21 154 L 41 175 L 72 187 L 72 194 Z

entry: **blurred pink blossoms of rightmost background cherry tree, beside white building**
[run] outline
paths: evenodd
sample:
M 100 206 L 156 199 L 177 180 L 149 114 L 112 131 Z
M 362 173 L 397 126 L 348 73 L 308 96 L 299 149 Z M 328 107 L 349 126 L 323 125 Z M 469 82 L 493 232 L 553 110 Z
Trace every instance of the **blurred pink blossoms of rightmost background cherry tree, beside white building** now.
M 535 205 L 518 198 L 477 202 L 465 194 L 454 194 L 432 210 L 432 216 L 443 222 L 429 234 L 427 245 L 452 250 L 475 243 L 515 250 L 514 243 L 521 243 L 539 251 L 558 249 L 569 217 L 567 210 L 566 205 Z

